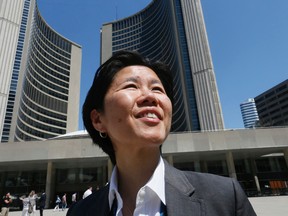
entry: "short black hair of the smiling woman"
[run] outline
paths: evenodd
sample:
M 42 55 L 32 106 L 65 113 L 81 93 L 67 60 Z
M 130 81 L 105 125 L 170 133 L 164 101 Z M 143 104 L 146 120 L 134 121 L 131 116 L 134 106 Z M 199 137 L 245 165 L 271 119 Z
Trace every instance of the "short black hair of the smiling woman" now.
M 115 75 L 124 67 L 140 65 L 152 69 L 162 82 L 165 92 L 173 106 L 173 79 L 168 65 L 160 61 L 151 61 L 144 58 L 136 51 L 119 51 L 103 63 L 96 71 L 93 83 L 89 89 L 82 108 L 83 123 L 94 144 L 109 155 L 111 162 L 115 165 L 116 158 L 110 138 L 101 138 L 99 132 L 94 128 L 90 117 L 91 112 L 96 109 L 104 111 L 104 98 L 110 88 Z

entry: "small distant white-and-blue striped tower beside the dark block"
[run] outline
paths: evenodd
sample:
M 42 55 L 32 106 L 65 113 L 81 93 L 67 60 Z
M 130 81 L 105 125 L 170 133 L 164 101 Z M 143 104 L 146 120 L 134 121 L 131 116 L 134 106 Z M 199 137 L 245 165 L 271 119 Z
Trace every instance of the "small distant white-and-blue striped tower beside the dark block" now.
M 245 128 L 253 128 L 258 123 L 259 117 L 253 98 L 240 104 L 240 110 Z

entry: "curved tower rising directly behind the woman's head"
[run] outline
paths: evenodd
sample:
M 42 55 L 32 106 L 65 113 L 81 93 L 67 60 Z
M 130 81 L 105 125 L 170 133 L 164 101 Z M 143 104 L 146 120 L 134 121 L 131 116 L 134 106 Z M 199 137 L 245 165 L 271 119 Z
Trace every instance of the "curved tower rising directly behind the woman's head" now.
M 153 0 L 101 32 L 101 62 L 118 50 L 137 50 L 171 67 L 172 131 L 224 128 L 200 0 Z

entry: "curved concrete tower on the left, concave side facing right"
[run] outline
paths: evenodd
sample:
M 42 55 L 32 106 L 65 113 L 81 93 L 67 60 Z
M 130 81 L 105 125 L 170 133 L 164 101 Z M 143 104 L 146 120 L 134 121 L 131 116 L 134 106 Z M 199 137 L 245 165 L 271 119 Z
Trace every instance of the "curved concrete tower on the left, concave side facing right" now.
M 82 49 L 54 31 L 36 0 L 0 1 L 0 139 L 78 129 Z

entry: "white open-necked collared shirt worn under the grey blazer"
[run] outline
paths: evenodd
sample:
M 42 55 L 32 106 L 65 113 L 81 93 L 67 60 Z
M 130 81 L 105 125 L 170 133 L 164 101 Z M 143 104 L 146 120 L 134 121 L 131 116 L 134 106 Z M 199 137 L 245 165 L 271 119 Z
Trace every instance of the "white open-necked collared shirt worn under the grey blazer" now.
M 164 162 L 160 157 L 159 163 L 149 179 L 137 193 L 136 196 L 136 208 L 134 216 L 159 216 L 161 201 L 166 204 L 165 200 L 165 180 L 164 180 Z M 110 188 L 109 188 L 109 205 L 112 207 L 114 198 L 117 198 L 117 212 L 116 216 L 122 216 L 123 201 L 118 192 L 118 181 L 117 181 L 117 167 L 114 167 Z

